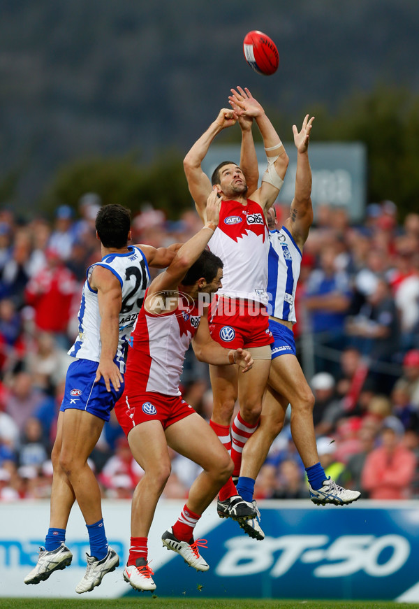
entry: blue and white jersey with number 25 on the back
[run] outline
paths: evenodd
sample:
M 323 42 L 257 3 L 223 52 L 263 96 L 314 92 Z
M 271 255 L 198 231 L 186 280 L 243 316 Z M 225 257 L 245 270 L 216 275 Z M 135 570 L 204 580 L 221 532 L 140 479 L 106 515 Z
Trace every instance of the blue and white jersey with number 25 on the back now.
M 122 289 L 122 307 L 119 313 L 119 343 L 115 361 L 124 373 L 124 356 L 138 313 L 144 301 L 149 284 L 150 273 L 147 260 L 139 248 L 128 246 L 126 254 L 108 254 L 101 262 L 87 269 L 82 301 L 78 313 L 79 334 L 68 354 L 79 359 L 99 361 L 101 357 L 101 315 L 99 314 L 98 294 L 91 289 L 89 278 L 95 266 L 109 268 L 117 277 Z

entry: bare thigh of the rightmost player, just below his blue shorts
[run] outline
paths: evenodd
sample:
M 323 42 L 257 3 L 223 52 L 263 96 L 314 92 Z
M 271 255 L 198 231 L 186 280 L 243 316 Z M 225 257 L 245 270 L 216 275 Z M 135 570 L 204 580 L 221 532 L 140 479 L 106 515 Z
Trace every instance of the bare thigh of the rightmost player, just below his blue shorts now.
M 311 389 L 295 355 L 284 354 L 272 359 L 268 383 L 291 406 L 310 399 Z

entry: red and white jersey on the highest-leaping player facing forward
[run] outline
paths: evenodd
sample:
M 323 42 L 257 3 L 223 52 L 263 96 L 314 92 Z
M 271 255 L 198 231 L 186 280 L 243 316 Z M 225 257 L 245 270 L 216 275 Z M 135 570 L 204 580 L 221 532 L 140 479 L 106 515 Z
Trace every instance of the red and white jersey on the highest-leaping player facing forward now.
M 218 294 L 267 304 L 268 231 L 263 209 L 247 199 L 222 201 L 219 225 L 208 247 L 224 263 Z

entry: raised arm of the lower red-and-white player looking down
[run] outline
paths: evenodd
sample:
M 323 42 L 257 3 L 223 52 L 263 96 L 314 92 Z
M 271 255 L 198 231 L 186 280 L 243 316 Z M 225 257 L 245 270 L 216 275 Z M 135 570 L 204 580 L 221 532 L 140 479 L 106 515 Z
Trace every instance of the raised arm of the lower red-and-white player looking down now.
M 221 199 L 213 189 L 207 200 L 206 215 L 207 222 L 205 226 L 196 233 L 193 237 L 186 241 L 177 251 L 175 258 L 166 268 L 166 271 L 160 273 L 150 285 L 147 292 L 146 306 L 152 310 L 151 300 L 156 292 L 170 292 L 177 290 L 179 283 L 186 275 L 189 268 L 200 257 L 201 253 L 207 247 L 208 241 L 214 234 L 214 230 L 219 223 L 219 210 Z

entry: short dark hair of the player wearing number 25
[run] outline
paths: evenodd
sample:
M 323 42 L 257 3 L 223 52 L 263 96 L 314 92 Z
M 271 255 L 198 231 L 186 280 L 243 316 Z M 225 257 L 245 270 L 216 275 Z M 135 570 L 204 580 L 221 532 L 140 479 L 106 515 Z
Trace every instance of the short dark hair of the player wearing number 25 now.
M 96 231 L 105 248 L 124 248 L 131 229 L 131 212 L 122 205 L 104 205 L 96 215 Z

